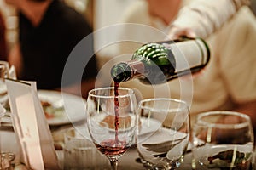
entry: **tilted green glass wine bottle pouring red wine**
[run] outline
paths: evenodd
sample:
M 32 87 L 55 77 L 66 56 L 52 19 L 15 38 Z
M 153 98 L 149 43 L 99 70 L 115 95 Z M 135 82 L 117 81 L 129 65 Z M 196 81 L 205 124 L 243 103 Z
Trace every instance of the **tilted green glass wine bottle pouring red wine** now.
M 114 82 L 139 78 L 147 84 L 158 84 L 201 71 L 209 59 L 207 42 L 200 37 L 151 42 L 138 48 L 131 60 L 113 65 L 111 77 Z

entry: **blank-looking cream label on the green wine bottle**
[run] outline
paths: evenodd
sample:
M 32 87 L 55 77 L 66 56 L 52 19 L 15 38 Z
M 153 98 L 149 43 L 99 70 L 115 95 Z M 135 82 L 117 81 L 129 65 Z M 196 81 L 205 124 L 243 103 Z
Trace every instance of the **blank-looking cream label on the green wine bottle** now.
M 163 44 L 172 51 L 176 60 L 176 72 L 193 69 L 207 63 L 207 48 L 200 40 Z

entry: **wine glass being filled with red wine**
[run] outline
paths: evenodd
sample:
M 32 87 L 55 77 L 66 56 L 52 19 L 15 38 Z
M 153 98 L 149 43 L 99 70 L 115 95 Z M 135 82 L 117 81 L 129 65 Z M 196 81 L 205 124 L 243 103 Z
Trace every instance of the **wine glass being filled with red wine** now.
M 137 102 L 130 88 L 96 88 L 89 92 L 86 111 L 90 137 L 117 169 L 119 157 L 135 141 Z

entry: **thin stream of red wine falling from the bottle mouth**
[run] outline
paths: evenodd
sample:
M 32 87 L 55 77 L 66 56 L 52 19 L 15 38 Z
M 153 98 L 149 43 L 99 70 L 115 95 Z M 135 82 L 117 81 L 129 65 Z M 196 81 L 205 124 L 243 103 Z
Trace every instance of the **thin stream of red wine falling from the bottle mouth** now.
M 119 82 L 114 82 L 114 130 L 115 130 L 115 144 L 119 144 Z

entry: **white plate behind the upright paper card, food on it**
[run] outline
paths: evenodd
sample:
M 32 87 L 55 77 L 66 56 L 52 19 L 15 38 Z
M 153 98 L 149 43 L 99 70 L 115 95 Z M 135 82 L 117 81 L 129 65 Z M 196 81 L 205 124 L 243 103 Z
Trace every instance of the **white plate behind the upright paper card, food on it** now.
M 41 101 L 51 105 L 64 105 L 63 116 L 47 119 L 49 125 L 62 125 L 86 120 L 85 99 L 73 94 L 66 94 L 51 90 L 38 90 Z

